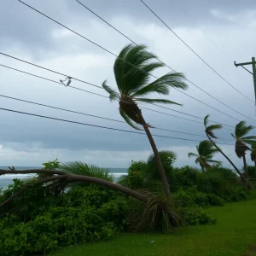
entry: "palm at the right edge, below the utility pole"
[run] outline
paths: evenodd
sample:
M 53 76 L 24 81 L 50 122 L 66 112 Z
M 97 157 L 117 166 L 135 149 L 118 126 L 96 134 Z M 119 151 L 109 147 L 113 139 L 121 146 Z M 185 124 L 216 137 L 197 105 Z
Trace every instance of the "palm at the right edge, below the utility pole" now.
M 247 136 L 247 134 L 253 129 L 252 125 L 246 125 L 245 121 L 241 121 L 236 125 L 235 135 L 231 133 L 232 137 L 236 139 L 236 155 L 243 160 L 246 178 L 248 178 L 246 151 L 251 150 L 251 148 L 247 147 L 247 144 L 253 146 L 256 143 L 256 136 Z

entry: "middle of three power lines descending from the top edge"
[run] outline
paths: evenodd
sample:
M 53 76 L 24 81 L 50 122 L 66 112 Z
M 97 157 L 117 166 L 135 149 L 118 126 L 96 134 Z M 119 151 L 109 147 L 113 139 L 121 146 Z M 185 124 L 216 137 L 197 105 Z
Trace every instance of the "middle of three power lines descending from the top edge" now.
M 107 20 L 104 20 L 100 15 L 97 15 L 93 10 L 91 10 L 90 8 L 88 8 L 87 6 L 84 5 L 84 3 L 79 2 L 79 0 L 76 0 L 79 4 L 81 4 L 85 9 L 89 10 L 90 13 L 92 13 L 93 15 L 96 15 L 96 17 L 98 17 L 100 20 L 102 20 L 103 22 L 105 22 L 108 26 L 112 27 L 113 30 L 115 30 L 116 32 L 119 32 L 119 34 L 121 34 L 123 37 L 125 37 L 126 39 L 128 39 L 132 44 L 136 44 L 138 45 L 136 42 L 134 42 L 131 38 L 127 37 L 123 32 L 120 32 L 119 29 L 117 29 L 116 27 L 114 27 L 113 25 L 111 25 Z M 150 54 L 147 50 L 144 49 L 145 52 L 147 52 L 148 54 Z M 156 60 L 160 61 L 159 58 L 154 57 Z M 160 61 L 162 64 L 164 64 L 166 67 L 169 67 L 174 73 L 177 73 L 177 71 L 175 71 L 172 67 L 168 66 L 165 62 Z M 185 78 L 186 79 L 186 78 Z M 190 84 L 193 84 L 196 88 L 198 88 L 199 90 L 203 91 L 205 94 L 207 94 L 207 96 L 212 97 L 213 99 L 215 99 L 217 102 L 223 104 L 225 107 L 230 108 L 232 111 L 235 111 L 236 113 L 241 114 L 242 116 L 251 119 L 249 117 L 247 117 L 247 115 L 240 113 L 239 111 L 237 111 L 235 108 L 231 108 L 229 105 L 225 104 L 224 102 L 221 102 L 220 100 L 218 100 L 218 98 L 216 98 L 215 96 L 212 96 L 210 93 L 208 93 L 206 90 L 203 90 L 200 86 L 196 85 L 195 83 L 191 82 L 189 79 L 186 79 Z M 183 93 L 183 91 L 180 91 Z M 238 120 L 238 119 L 237 119 Z M 254 119 L 253 119 L 254 120 Z

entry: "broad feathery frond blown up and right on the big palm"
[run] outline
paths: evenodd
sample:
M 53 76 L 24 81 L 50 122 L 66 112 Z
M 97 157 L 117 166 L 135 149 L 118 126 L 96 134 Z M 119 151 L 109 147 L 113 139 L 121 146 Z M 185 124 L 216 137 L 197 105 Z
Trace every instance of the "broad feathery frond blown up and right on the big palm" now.
M 151 84 L 144 86 L 143 88 L 135 91 L 132 96 L 147 96 L 149 93 L 159 93 L 161 95 L 169 94 L 169 87 L 187 89 L 188 85 L 183 82 L 183 73 L 167 73 L 160 77 L 160 79 L 154 80 Z

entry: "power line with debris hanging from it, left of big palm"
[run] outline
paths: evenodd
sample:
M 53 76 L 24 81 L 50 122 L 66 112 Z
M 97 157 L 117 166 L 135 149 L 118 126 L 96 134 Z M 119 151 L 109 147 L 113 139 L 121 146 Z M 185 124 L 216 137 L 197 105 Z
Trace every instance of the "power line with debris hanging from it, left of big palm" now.
M 0 52 L 0 53 L 1 53 L 1 52 Z M 22 60 L 20 60 L 20 61 L 22 61 Z M 32 63 L 31 63 L 31 64 L 32 64 Z M 33 64 L 32 64 L 32 65 L 33 65 Z M 38 79 L 44 79 L 44 80 L 47 80 L 47 81 L 52 82 L 52 83 L 55 83 L 55 84 L 61 84 L 60 82 L 56 82 L 55 80 L 46 79 L 46 78 L 44 78 L 44 77 L 40 77 L 40 76 L 35 75 L 35 74 L 33 74 L 33 73 L 27 73 L 27 72 L 25 72 L 25 71 L 22 71 L 22 70 L 20 70 L 20 69 L 16 69 L 16 68 L 14 68 L 14 67 L 8 67 L 8 66 L 2 65 L 2 64 L 0 64 L 0 66 L 1 66 L 1 67 L 9 68 L 9 69 L 11 69 L 11 70 L 15 70 L 15 71 L 20 72 L 20 73 L 25 73 L 25 74 L 27 74 L 27 75 L 31 75 L 31 76 L 36 77 L 36 78 L 38 78 Z M 63 84 L 61 84 L 61 85 L 63 85 Z M 96 96 L 102 96 L 102 97 L 105 97 L 105 98 L 109 99 L 108 96 L 103 96 L 103 95 L 101 95 L 101 94 L 92 92 L 92 91 L 90 91 L 90 90 L 80 89 L 79 87 L 75 87 L 75 86 L 71 86 L 71 85 L 69 85 L 68 87 L 71 87 L 71 88 L 73 88 L 73 89 L 75 89 L 75 90 L 82 90 L 82 91 L 84 91 L 84 92 L 87 92 L 87 93 L 90 93 L 90 94 L 94 94 L 94 95 L 96 95 Z M 156 105 L 156 104 L 154 104 L 154 105 L 157 106 L 157 107 L 160 107 L 160 108 L 166 108 L 166 107 L 162 107 L 162 106 L 159 106 L 159 105 Z M 143 107 L 141 107 L 141 108 L 143 108 Z M 156 111 L 156 110 L 153 110 L 153 109 L 150 109 L 150 108 L 143 108 L 143 109 L 148 109 L 149 111 L 152 111 L 152 112 L 162 113 L 162 114 L 166 114 L 166 115 L 169 115 L 169 116 L 172 116 L 172 117 L 176 117 L 176 118 L 179 118 L 179 119 L 185 119 L 185 120 L 189 120 L 189 121 L 191 121 L 191 122 L 195 122 L 195 123 L 201 124 L 201 122 L 199 122 L 199 121 L 195 121 L 195 120 L 192 120 L 192 119 L 186 119 L 186 118 L 179 117 L 179 116 L 177 116 L 177 115 L 173 115 L 173 114 L 169 114 L 169 113 L 163 113 L 163 112 Z M 177 110 L 174 110 L 174 109 L 172 109 L 172 108 L 167 108 L 167 109 L 172 110 L 172 111 L 174 111 L 174 112 L 183 113 L 183 112 L 181 112 L 181 111 L 177 111 Z M 189 116 L 192 116 L 192 117 L 195 117 L 195 118 L 197 118 L 197 119 L 202 119 L 201 117 L 197 117 L 197 116 L 195 116 L 195 115 L 193 115 L 193 114 L 189 114 L 189 113 L 183 113 L 183 114 L 189 115 Z M 213 122 L 213 123 L 220 124 L 220 125 L 224 125 L 224 124 L 218 123 L 217 121 L 213 121 L 213 120 L 212 120 L 212 122 Z M 224 125 L 224 126 L 230 126 L 230 127 L 234 128 L 234 126 L 231 126 L 231 125 Z M 224 128 L 224 129 L 228 129 L 228 128 Z M 230 130 L 230 129 L 228 129 L 228 130 Z

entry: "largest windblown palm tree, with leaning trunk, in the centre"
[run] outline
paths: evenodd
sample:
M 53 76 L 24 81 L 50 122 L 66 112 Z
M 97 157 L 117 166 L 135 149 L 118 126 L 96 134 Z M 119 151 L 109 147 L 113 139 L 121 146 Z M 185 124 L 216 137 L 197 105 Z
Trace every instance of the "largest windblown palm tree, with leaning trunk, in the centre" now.
M 160 79 L 149 82 L 151 73 L 159 67 L 164 67 L 164 64 L 160 61 L 155 61 L 154 59 L 157 58 L 156 55 L 146 51 L 146 48 L 145 45 L 128 44 L 120 51 L 113 66 L 113 73 L 119 93 L 110 88 L 106 80 L 103 82 L 102 87 L 108 91 L 110 101 L 119 101 L 119 113 L 127 124 L 137 130 L 144 129 L 146 132 L 155 155 L 166 196 L 170 197 L 171 194 L 166 173 L 162 166 L 154 139 L 148 129 L 149 127 L 153 127 L 148 125 L 143 118 L 142 110 L 137 106 L 137 102 L 181 105 L 166 99 L 152 99 L 147 96 L 151 93 L 168 95 L 170 87 L 185 90 L 187 84 L 183 82 L 183 73 L 167 73 L 160 77 Z

